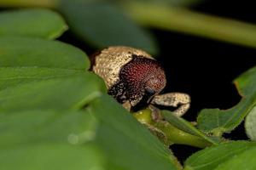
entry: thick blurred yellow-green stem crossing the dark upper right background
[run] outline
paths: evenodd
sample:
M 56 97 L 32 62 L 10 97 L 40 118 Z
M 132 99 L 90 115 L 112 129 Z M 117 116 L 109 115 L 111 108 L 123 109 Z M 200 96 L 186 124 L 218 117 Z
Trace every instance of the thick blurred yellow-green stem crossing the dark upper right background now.
M 152 3 L 132 1 L 123 3 L 123 7 L 131 18 L 146 26 L 256 48 L 256 26 L 253 24 Z

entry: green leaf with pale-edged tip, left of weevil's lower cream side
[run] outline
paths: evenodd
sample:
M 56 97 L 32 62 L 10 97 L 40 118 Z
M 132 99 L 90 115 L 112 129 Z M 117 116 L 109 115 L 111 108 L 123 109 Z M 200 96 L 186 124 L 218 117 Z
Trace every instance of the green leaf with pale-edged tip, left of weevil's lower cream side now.
M 95 75 L 84 73 L 83 76 L 29 82 L 5 88 L 0 91 L 0 111 L 79 109 L 101 95 L 103 87 L 100 82 Z

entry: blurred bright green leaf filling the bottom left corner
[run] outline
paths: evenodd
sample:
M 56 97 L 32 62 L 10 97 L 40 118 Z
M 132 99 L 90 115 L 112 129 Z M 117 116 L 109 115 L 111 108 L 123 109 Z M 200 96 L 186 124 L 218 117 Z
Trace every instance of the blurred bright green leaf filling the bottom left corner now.
M 0 150 L 4 170 L 104 169 L 102 155 L 93 144 L 28 144 Z

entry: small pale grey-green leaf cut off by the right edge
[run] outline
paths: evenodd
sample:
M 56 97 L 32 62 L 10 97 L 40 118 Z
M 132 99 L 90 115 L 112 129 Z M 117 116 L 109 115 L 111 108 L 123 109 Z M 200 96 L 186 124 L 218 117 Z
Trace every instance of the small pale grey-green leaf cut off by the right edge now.
M 247 136 L 256 140 L 256 105 L 254 105 L 253 109 L 248 113 L 248 116 L 245 120 L 245 128 L 247 132 Z

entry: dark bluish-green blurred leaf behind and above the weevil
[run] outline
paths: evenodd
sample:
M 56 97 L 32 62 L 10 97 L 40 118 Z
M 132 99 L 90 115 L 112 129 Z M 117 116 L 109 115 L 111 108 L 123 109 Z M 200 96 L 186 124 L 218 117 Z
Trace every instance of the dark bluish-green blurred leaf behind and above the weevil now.
M 154 40 L 118 8 L 106 2 L 64 1 L 61 12 L 79 38 L 96 48 L 125 45 L 157 53 Z

